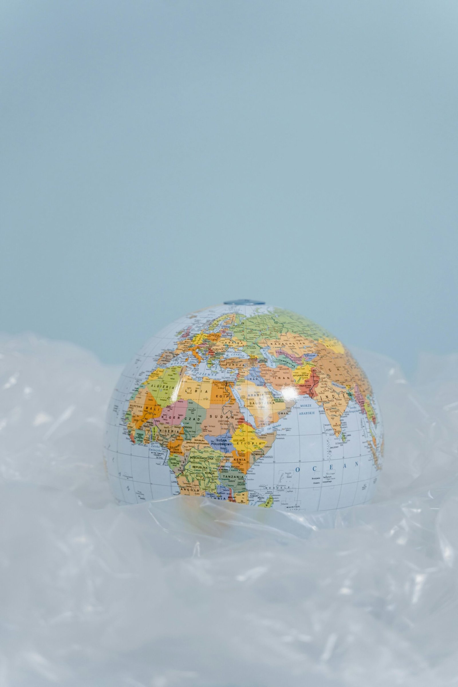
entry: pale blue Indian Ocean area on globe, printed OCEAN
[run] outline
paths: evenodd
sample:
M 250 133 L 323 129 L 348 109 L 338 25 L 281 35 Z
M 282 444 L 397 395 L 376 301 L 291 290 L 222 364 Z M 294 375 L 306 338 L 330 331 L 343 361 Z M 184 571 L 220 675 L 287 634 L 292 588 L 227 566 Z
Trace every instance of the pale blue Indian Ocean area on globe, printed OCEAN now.
M 378 411 L 375 398 L 374 405 Z M 262 436 L 275 429 L 277 437 L 268 453 L 247 472 L 249 501 L 264 502 L 273 484 L 273 498 L 284 510 L 328 510 L 369 502 L 379 471 L 367 444 L 361 441 L 358 423 L 364 421 L 358 404 L 350 401 L 342 416 L 347 436 L 342 444 L 323 408 L 309 396 L 299 398 L 290 415 L 259 432 Z

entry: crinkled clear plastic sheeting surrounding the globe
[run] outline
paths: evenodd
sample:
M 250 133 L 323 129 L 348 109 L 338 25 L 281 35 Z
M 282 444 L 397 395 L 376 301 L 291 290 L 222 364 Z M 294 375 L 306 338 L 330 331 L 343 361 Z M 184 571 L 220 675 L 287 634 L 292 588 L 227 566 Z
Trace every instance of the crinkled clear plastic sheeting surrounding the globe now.
M 2 687 L 458 684 L 458 356 L 408 383 L 356 351 L 385 421 L 376 500 L 292 515 L 115 506 L 119 369 L 33 336 L 0 351 Z

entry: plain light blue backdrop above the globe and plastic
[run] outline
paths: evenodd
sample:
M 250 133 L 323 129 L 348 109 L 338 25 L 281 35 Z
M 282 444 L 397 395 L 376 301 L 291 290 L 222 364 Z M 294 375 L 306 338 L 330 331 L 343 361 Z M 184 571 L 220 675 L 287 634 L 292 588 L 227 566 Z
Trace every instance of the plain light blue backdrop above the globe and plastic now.
M 1 322 L 126 361 L 255 297 L 457 350 L 455 1 L 1 5 Z

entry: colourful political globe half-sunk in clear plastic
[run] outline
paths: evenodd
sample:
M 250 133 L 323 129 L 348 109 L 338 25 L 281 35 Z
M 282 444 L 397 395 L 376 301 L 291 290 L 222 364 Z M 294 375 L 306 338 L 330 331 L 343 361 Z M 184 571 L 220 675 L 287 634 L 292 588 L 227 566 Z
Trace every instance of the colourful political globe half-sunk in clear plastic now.
M 341 341 L 235 300 L 176 320 L 127 365 L 104 460 L 122 504 L 181 494 L 316 511 L 369 501 L 382 454 L 376 398 Z

